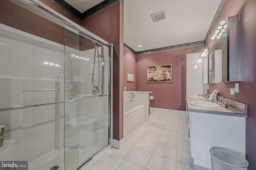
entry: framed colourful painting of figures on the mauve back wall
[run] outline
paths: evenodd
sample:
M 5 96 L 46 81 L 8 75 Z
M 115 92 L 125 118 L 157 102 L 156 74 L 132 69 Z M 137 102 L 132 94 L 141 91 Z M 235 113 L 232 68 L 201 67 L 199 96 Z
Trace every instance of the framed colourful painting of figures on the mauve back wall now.
M 147 66 L 147 83 L 172 82 L 172 64 Z

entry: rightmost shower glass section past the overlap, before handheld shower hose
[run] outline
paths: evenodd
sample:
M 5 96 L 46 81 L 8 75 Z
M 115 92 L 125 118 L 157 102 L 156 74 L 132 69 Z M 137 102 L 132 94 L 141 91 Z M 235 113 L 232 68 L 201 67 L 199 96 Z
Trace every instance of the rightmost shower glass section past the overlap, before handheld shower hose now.
M 110 48 L 80 33 L 78 164 L 90 159 L 110 139 Z

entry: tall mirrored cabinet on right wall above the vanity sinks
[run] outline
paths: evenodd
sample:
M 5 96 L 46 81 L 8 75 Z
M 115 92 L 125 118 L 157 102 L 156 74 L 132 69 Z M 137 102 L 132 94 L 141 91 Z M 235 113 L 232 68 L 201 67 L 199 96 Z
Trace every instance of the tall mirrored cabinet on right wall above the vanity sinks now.
M 226 24 L 219 26 L 218 30 L 214 55 L 209 55 L 208 59 L 209 74 L 213 74 L 210 70 L 212 57 L 214 83 L 240 81 L 240 15 L 228 17 Z

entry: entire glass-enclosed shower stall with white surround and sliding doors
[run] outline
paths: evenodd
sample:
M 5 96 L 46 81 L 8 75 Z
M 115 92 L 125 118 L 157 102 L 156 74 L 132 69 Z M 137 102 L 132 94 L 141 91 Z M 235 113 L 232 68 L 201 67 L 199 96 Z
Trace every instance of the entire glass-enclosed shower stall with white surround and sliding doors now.
M 36 0 L 0 4 L 0 162 L 78 169 L 110 146 L 112 45 Z

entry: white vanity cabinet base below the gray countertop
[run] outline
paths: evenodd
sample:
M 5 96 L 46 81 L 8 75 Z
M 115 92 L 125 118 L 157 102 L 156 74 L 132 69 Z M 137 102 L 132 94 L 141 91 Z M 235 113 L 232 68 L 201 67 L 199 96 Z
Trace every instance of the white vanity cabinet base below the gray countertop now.
M 210 149 L 223 147 L 245 158 L 246 117 L 190 111 L 190 151 L 194 164 L 212 169 Z

